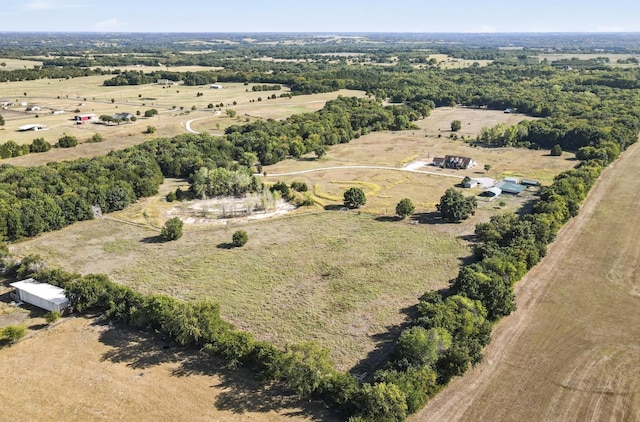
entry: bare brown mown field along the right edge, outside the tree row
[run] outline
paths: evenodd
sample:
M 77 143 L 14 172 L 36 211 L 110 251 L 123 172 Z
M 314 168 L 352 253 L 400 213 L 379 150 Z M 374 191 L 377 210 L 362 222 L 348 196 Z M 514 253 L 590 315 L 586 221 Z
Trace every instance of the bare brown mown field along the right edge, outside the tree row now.
M 640 146 L 518 284 L 486 358 L 413 420 L 640 420 Z

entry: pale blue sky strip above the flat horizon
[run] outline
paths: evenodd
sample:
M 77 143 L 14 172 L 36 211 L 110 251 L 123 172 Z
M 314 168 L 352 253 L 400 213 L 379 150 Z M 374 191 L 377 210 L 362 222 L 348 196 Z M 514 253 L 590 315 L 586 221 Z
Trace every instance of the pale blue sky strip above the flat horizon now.
M 637 0 L 4 0 L 3 3 L 0 31 L 640 32 Z

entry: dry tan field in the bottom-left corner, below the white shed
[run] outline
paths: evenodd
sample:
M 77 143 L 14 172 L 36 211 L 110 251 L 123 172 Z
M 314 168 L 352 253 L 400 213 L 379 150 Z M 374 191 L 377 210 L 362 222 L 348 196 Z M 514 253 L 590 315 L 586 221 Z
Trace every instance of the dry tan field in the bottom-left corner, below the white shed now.
M 332 421 L 153 336 L 69 318 L 0 349 L 2 420 Z

